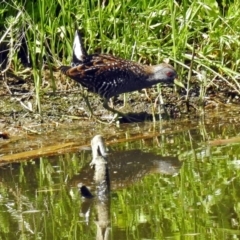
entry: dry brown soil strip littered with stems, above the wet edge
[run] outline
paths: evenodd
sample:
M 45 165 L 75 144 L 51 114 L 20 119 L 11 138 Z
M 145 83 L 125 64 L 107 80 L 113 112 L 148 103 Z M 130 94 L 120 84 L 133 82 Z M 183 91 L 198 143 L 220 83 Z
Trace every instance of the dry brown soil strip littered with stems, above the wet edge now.
M 54 78 L 55 92 L 52 90 L 50 79 Z M 228 109 L 237 106 L 240 98 L 223 80 L 215 79 L 205 89 L 203 101 L 199 98 L 200 83 L 196 78 L 191 82 L 189 101 L 186 101 L 186 91 L 177 86 L 162 86 L 163 104 L 159 104 L 157 87 L 126 94 L 126 104 L 120 95 L 112 99 L 115 109 L 134 116 L 133 121 L 153 120 L 161 118 L 195 118 L 213 109 Z M 38 124 L 68 124 L 74 121 L 94 122 L 82 94 L 88 94 L 88 99 L 97 119 L 110 122 L 113 114 L 102 107 L 102 99 L 87 93 L 80 84 L 67 79 L 59 72 L 42 72 L 40 91 L 41 114 L 36 105 L 34 80 L 30 70 L 19 73 L 7 72 L 0 78 L 0 132 L 1 138 L 7 138 L 9 132 L 25 131 Z M 132 118 L 131 118 L 132 119 Z M 128 119 L 120 119 L 124 122 Z

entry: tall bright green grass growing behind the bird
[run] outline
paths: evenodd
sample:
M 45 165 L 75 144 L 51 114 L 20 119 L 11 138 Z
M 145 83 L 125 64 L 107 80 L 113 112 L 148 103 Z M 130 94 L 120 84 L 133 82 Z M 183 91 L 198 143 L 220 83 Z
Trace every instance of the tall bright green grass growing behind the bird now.
M 29 55 L 41 111 L 40 93 L 49 88 L 43 84 L 42 69 L 50 69 L 50 87 L 55 91 L 52 70 L 71 62 L 78 26 L 89 53 L 112 53 L 148 64 L 169 59 L 184 84 L 186 99 L 195 75 L 201 99 L 214 79 L 221 79 L 239 94 L 239 16 L 238 0 L 2 1 L 3 59 L 3 51 L 8 49 L 2 70 L 11 68 L 19 75 L 26 67 L 20 58 L 26 63 Z

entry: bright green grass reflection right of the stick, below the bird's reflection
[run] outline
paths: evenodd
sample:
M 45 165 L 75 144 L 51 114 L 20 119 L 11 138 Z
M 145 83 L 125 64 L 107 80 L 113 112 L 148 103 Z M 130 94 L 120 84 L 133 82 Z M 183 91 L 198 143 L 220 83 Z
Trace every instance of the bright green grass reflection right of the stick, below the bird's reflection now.
M 177 176 L 149 175 L 119 191 L 112 201 L 115 228 L 149 239 L 179 235 L 219 239 L 238 234 L 239 171 L 231 160 L 239 153 L 230 156 L 227 147 L 222 152 L 225 158 L 219 160 L 218 151 L 212 149 L 205 162 L 191 154 Z

